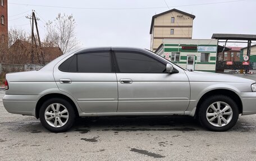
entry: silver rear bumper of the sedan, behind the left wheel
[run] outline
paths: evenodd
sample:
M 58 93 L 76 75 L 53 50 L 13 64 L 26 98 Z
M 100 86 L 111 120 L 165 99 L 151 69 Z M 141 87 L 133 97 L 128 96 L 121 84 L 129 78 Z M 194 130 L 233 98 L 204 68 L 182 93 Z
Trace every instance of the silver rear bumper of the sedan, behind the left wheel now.
M 4 95 L 4 108 L 10 113 L 35 116 L 36 100 L 39 95 Z

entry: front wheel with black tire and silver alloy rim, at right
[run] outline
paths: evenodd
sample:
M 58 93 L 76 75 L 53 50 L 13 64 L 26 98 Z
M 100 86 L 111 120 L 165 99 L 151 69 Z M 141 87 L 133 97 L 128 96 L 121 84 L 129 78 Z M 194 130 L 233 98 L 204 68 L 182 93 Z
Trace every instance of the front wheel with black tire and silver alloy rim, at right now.
M 239 117 L 237 104 L 226 95 L 213 95 L 199 106 L 199 122 L 211 131 L 227 131 Z

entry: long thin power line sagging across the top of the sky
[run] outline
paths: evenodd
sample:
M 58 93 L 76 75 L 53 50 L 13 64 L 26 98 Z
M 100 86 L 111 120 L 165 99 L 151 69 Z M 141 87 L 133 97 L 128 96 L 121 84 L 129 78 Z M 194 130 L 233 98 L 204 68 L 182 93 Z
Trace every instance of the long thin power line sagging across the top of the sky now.
M 232 3 L 232 2 L 241 2 L 241 1 L 248 1 L 248 0 L 236 0 L 236 1 L 225 1 L 225 2 L 186 4 L 186 5 L 171 6 L 171 7 L 201 6 L 201 5 L 208 5 L 208 4 L 222 4 L 222 3 Z M 156 9 L 156 8 L 168 8 L 168 7 L 97 8 L 97 7 L 48 6 L 48 5 L 36 5 L 36 4 L 24 4 L 24 3 L 9 3 L 9 4 L 16 4 L 16 5 L 21 5 L 21 6 L 54 7 L 54 8 L 69 8 L 69 9 L 83 9 L 83 10 L 145 10 L 145 9 Z

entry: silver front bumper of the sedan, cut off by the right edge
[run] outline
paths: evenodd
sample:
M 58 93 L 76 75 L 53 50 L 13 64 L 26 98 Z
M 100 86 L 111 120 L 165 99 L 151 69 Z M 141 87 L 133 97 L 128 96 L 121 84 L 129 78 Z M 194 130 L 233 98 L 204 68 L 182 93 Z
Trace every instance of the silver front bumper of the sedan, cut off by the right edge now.
M 243 103 L 243 115 L 256 114 L 256 92 L 239 93 Z

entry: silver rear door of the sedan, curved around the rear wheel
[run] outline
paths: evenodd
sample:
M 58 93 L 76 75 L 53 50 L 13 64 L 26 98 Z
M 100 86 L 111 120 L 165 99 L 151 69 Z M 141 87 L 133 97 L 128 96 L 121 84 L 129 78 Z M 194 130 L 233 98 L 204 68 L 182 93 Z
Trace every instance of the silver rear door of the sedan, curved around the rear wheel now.
M 116 112 L 117 79 L 110 48 L 84 50 L 54 67 L 58 88 L 83 112 Z

